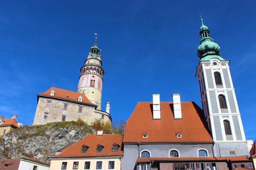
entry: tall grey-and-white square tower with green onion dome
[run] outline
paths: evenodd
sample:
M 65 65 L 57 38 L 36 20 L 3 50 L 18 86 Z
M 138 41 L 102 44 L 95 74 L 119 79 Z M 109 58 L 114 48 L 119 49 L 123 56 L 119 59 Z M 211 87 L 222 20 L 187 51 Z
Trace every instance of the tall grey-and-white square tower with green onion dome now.
M 220 57 L 220 46 L 209 37 L 208 27 L 203 22 L 200 35 L 197 51 L 200 62 L 195 76 L 204 116 L 215 141 L 213 149 L 220 157 L 249 155 L 229 60 Z

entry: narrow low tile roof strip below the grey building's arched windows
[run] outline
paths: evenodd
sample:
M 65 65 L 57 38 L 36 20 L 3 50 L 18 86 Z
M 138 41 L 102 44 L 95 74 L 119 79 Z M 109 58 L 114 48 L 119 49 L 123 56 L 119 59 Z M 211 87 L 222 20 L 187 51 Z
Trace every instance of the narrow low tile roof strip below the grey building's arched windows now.
M 151 157 L 137 158 L 137 163 L 150 161 L 248 161 L 247 157 Z

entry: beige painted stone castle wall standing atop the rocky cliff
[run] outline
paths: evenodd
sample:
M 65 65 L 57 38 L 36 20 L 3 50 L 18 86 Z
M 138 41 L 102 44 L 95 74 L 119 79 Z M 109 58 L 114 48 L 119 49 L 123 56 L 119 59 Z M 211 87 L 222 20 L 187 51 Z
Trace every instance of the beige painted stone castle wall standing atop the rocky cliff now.
M 93 124 L 96 119 L 108 121 L 110 124 L 112 122 L 108 113 L 96 110 L 92 106 L 39 97 L 33 125 L 64 121 L 63 119 L 65 121 L 81 119 L 89 125 Z

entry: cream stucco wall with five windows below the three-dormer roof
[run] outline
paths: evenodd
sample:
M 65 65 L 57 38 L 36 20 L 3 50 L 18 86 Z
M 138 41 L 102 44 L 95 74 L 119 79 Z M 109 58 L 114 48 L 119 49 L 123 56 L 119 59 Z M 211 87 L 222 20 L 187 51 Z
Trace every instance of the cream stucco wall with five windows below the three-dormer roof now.
M 90 170 L 96 169 L 96 162 L 102 161 L 102 170 L 108 170 L 108 161 L 115 161 L 115 169 L 121 170 L 121 161 L 119 157 L 104 157 L 104 158 L 67 158 L 67 159 L 58 159 L 51 160 L 50 170 L 61 170 L 62 162 L 67 162 L 67 170 L 73 169 L 73 163 L 79 162 L 77 170 L 84 170 L 85 161 L 90 161 Z

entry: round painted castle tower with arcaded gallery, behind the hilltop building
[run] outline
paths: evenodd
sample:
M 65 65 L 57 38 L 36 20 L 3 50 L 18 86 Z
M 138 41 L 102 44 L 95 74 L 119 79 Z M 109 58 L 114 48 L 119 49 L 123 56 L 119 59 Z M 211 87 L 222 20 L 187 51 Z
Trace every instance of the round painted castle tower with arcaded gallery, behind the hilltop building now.
M 79 77 L 77 92 L 85 94 L 90 102 L 98 106 L 98 110 L 101 110 L 101 93 L 104 74 L 101 66 L 101 54 L 95 42 L 85 60 L 85 65 L 80 69 L 81 75 Z

